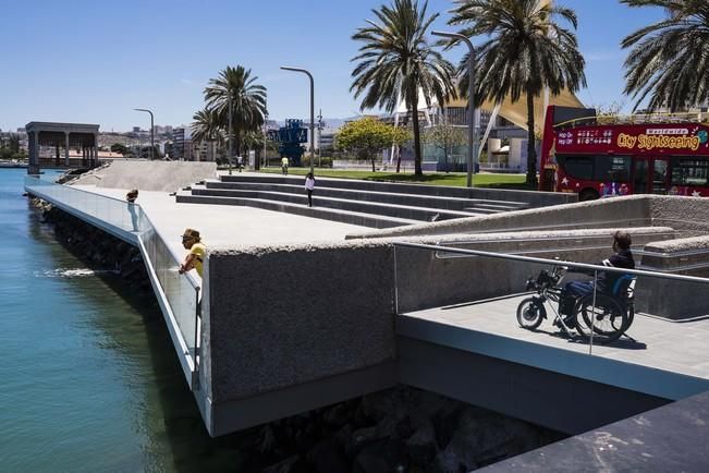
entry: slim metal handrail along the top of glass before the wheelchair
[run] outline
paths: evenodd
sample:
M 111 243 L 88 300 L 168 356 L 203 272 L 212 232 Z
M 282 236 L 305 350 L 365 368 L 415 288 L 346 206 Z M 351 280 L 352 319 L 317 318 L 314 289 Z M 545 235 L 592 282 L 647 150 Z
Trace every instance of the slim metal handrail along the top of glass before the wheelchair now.
M 394 246 L 413 247 L 419 250 L 431 250 L 431 251 L 442 250 L 450 253 L 461 253 L 461 254 L 467 254 L 473 256 L 486 256 L 490 258 L 511 259 L 516 262 L 537 263 L 542 265 L 562 265 L 562 266 L 571 266 L 579 269 L 586 269 L 590 271 L 619 272 L 623 275 L 647 276 L 650 278 L 670 279 L 670 280 L 685 281 L 685 282 L 700 282 L 700 283 L 709 284 L 709 278 L 700 278 L 697 276 L 668 275 L 664 272 L 659 274 L 656 271 L 648 271 L 644 269 L 615 268 L 612 266 L 590 265 L 587 263 L 566 262 L 563 259 L 538 258 L 534 256 L 519 256 L 519 255 L 511 255 L 506 253 L 485 252 L 479 250 L 463 250 L 463 248 L 455 248 L 451 246 L 429 245 L 423 243 L 394 242 L 393 244 Z

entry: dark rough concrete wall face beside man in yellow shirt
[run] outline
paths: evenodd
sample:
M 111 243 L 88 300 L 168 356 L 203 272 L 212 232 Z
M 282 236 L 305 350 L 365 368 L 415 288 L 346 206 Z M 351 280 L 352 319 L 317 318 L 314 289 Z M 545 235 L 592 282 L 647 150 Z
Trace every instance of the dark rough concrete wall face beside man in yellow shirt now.
M 392 361 L 392 268 L 383 242 L 211 250 L 212 403 Z

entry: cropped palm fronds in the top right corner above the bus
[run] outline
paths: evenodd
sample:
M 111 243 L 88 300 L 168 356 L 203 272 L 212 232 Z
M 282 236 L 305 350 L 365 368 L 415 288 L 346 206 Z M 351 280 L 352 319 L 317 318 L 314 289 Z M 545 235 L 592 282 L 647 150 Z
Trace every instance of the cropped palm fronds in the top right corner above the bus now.
M 629 7 L 661 7 L 668 17 L 638 29 L 621 45 L 633 48 L 625 60 L 625 93 L 649 96 L 650 110 L 685 109 L 709 100 L 709 2 L 707 0 L 621 0 Z

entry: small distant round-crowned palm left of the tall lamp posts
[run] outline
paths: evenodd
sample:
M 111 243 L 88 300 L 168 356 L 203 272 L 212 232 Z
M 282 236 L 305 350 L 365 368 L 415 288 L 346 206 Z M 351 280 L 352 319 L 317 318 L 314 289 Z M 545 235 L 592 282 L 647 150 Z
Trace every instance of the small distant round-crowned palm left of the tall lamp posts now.
M 232 102 L 232 130 L 236 153 L 241 153 L 242 133 L 258 130 L 266 114 L 266 87 L 256 83 L 250 69 L 227 66 L 205 88 L 207 108 L 219 117 L 221 126 L 229 129 L 229 101 Z

